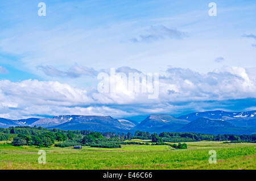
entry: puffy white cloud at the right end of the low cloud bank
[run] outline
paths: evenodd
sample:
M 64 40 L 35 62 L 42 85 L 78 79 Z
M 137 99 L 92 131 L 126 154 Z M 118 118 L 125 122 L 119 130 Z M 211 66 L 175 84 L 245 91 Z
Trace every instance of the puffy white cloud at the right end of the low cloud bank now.
M 178 87 L 175 99 L 187 97 L 188 100 L 223 100 L 256 97 L 255 74 L 245 68 L 224 67 L 207 74 L 199 74 L 189 69 L 181 70 L 170 68 L 167 72 L 171 76 L 164 78 Z

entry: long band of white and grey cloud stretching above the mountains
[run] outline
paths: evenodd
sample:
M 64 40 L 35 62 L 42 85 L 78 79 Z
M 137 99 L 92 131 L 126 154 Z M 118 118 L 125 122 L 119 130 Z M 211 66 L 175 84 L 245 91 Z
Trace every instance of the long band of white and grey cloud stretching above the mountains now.
M 129 67 L 118 70 L 139 71 Z M 117 78 L 117 93 L 100 93 L 97 87 L 79 89 L 56 81 L 2 80 L 0 117 L 172 114 L 184 110 L 204 110 L 213 104 L 216 108 L 217 102 L 232 99 L 256 98 L 256 68 L 224 67 L 201 74 L 191 69 L 170 67 L 159 77 L 158 99 L 148 99 L 145 93 L 130 92 L 123 86 L 124 83 Z

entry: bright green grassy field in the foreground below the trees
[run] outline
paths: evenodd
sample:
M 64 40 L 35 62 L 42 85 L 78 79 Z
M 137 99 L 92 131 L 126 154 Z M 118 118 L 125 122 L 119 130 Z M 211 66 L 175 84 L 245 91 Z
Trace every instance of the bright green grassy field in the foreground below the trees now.
M 187 145 L 186 150 L 167 145 L 80 150 L 52 146 L 41 148 L 46 151 L 46 164 L 39 164 L 38 147 L 12 146 L 0 141 L 0 169 L 256 169 L 256 144 L 201 141 Z M 216 164 L 208 162 L 209 150 L 216 150 Z

